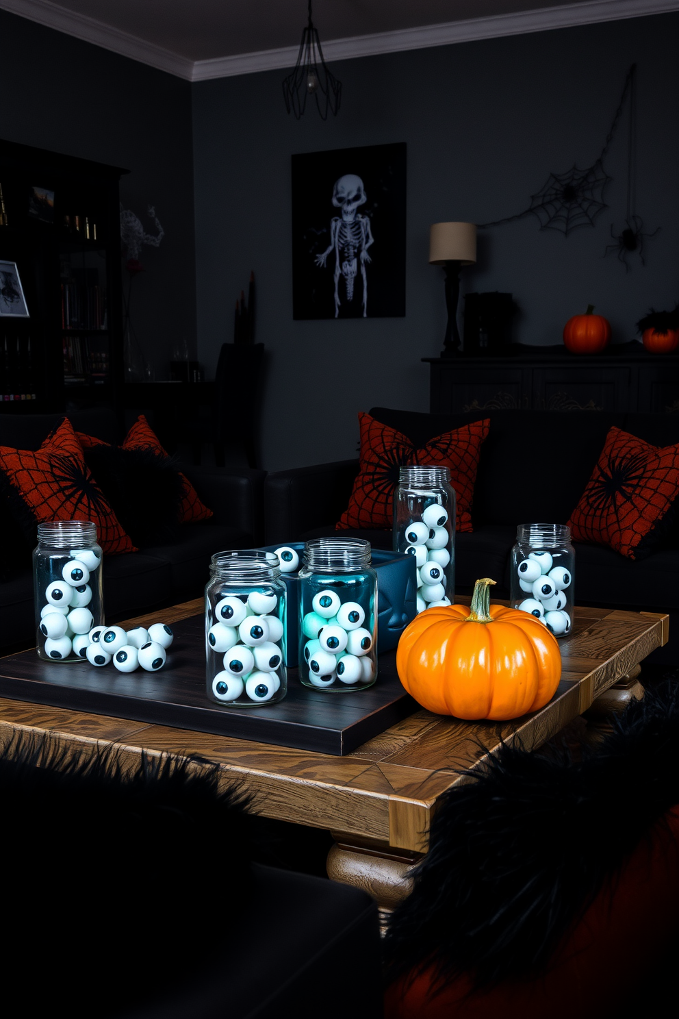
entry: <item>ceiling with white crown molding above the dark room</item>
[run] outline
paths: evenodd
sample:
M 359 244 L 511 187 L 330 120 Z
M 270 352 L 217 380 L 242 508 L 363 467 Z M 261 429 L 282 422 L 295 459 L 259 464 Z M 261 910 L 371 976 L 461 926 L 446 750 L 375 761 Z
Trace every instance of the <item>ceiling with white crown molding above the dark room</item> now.
M 307 0 L 0 0 L 0 8 L 196 79 L 287 66 Z M 679 0 L 315 0 L 327 58 L 679 8 Z M 274 51 L 272 54 L 271 51 Z

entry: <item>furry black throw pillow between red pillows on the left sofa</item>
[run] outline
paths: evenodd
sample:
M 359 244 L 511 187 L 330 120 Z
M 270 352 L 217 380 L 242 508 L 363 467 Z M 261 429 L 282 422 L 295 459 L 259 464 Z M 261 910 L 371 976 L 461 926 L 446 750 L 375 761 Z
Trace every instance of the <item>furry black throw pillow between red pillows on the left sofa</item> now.
M 183 483 L 170 457 L 103 443 L 83 451 L 97 484 L 135 545 L 164 545 L 177 537 Z

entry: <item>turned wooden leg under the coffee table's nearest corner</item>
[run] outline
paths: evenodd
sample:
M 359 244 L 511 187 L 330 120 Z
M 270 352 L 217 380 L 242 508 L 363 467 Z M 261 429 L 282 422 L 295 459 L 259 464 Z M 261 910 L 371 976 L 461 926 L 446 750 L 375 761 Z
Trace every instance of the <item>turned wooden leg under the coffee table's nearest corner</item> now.
M 384 933 L 389 914 L 410 894 L 410 871 L 421 855 L 377 842 L 359 844 L 355 836 L 332 832 L 328 876 L 367 892 L 377 901 Z

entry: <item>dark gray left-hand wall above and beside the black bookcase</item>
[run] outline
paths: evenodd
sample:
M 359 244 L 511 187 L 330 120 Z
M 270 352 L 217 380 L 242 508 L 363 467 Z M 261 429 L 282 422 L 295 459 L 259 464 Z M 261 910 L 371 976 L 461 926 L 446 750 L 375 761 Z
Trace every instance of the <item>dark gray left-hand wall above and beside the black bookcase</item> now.
M 132 315 L 167 377 L 174 343 L 195 336 L 191 87 L 5 11 L 0 40 L 0 137 L 130 170 L 120 198 L 150 233 L 156 206 L 165 238 L 142 249 Z

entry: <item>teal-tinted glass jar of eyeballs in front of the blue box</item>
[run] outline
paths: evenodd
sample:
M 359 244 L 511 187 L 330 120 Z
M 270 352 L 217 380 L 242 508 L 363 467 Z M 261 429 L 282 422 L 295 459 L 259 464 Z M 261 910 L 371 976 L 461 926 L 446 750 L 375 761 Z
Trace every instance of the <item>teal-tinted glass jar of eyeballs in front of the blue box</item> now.
M 339 693 L 372 687 L 378 675 L 378 575 L 371 543 L 316 538 L 299 571 L 299 679 Z

